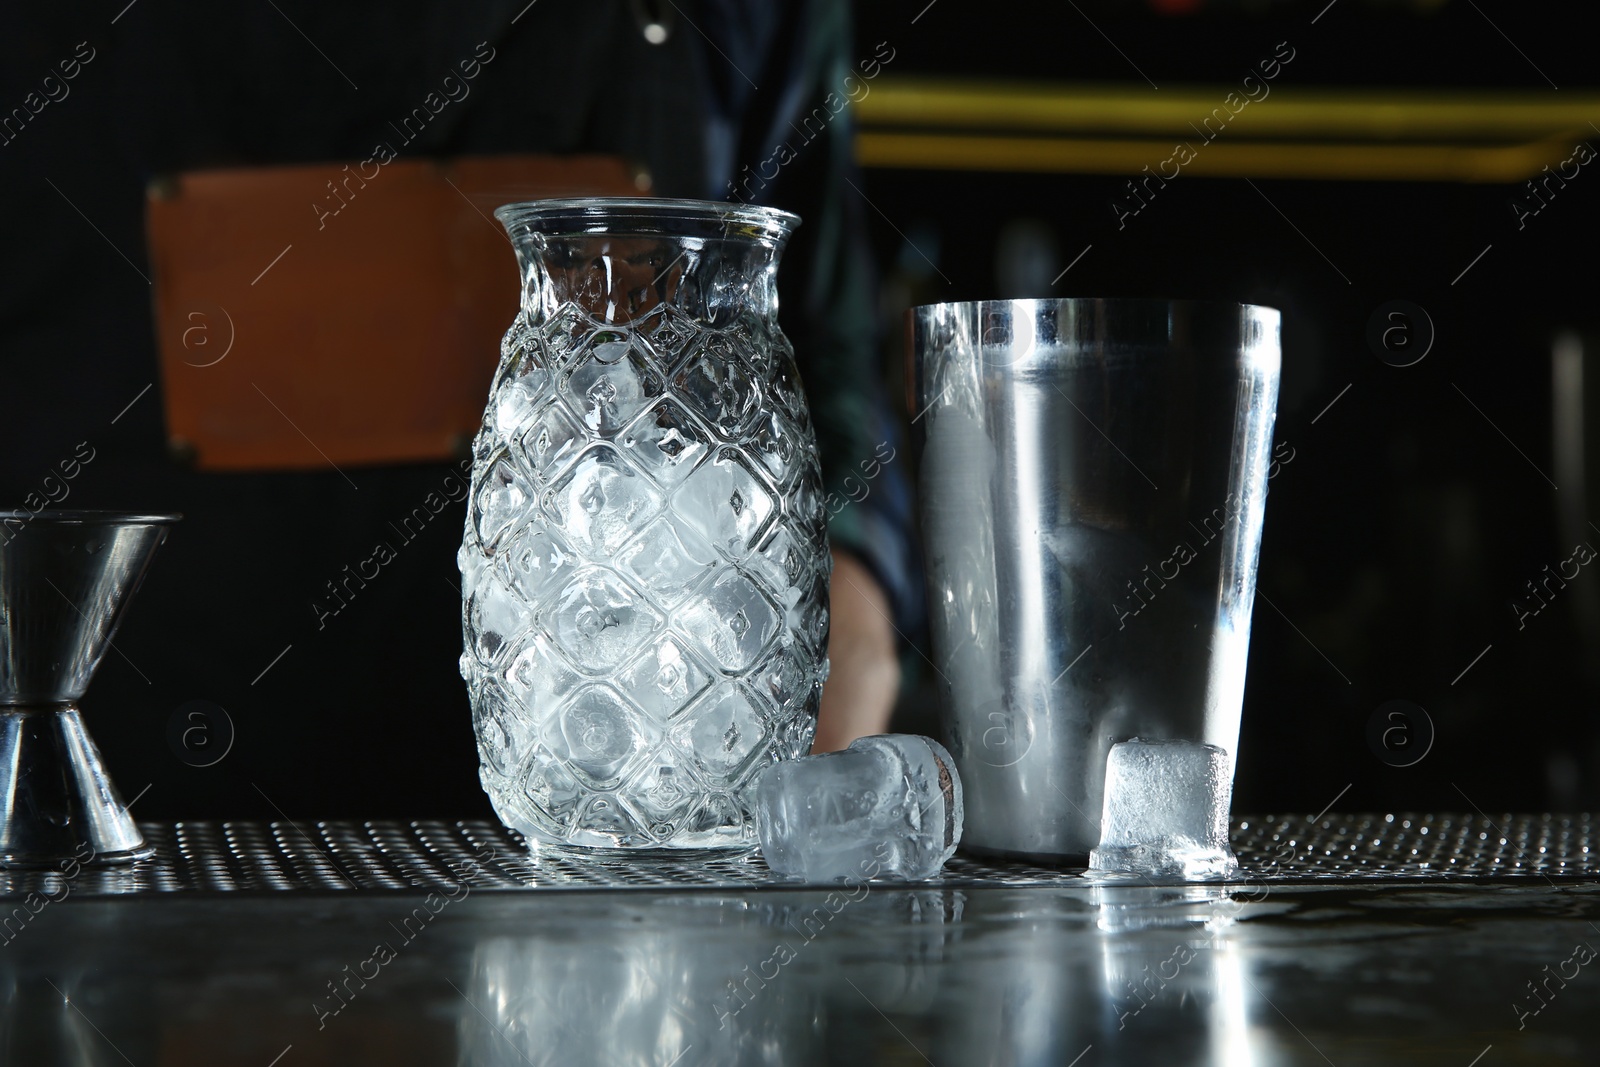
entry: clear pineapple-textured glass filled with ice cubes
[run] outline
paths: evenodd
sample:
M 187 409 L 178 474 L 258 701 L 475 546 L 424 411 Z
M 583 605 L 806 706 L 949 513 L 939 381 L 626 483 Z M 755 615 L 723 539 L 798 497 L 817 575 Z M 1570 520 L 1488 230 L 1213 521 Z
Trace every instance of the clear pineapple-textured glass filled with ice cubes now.
M 459 565 L 480 777 L 533 843 L 750 848 L 827 675 L 821 469 L 778 258 L 798 219 L 690 200 L 499 208 L 522 310 Z

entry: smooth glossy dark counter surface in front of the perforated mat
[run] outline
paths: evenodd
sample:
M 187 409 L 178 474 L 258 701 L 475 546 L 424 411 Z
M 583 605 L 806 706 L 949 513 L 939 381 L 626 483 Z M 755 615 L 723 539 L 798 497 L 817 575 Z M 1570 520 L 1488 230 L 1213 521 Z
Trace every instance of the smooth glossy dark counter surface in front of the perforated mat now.
M 475 891 L 402 947 L 419 899 L 74 894 L 0 947 L 0 1064 L 1587 1064 L 1600 1008 L 1512 1009 L 1600 885 Z

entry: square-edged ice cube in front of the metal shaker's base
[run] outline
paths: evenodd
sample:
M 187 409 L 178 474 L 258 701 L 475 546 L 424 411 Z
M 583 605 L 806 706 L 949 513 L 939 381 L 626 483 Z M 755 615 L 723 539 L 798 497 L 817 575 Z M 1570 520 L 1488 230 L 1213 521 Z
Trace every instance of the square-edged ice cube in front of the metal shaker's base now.
M 1123 741 L 1106 757 L 1106 806 L 1090 867 L 1146 878 L 1238 873 L 1227 841 L 1227 752 L 1198 741 Z

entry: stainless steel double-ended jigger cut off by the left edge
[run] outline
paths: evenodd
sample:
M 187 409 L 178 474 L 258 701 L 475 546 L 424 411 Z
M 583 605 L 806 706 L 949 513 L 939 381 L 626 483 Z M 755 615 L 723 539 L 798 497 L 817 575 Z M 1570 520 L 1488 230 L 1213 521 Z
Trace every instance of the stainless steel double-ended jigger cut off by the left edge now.
M 149 854 L 78 701 L 179 518 L 0 512 L 0 867 Z

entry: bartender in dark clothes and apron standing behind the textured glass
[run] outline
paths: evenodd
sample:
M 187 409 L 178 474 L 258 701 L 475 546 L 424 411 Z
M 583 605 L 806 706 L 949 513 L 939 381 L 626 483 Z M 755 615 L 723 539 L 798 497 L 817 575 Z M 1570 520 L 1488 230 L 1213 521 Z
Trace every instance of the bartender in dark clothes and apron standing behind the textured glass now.
M 464 58 L 482 64 L 470 91 L 402 157 L 616 155 L 646 168 L 658 195 L 803 218 L 779 291 L 835 512 L 818 747 L 886 728 L 898 633 L 920 611 L 909 486 L 902 464 L 882 466 L 859 502 L 843 480 L 898 446 L 850 184 L 850 101 L 893 48 L 853 43 L 845 0 L 285 0 L 102 14 L 18 10 L 0 43 L 16 83 L 6 106 L 27 98 L 35 69 L 67 86 L 0 146 L 0 498 L 21 507 L 75 456 L 58 506 L 187 515 L 86 701 L 114 774 L 130 793 L 152 782 L 136 814 L 485 811 L 454 667 L 464 515 L 435 523 L 341 617 L 312 627 L 306 608 L 446 467 L 350 470 L 352 493 L 331 470 L 198 474 L 168 458 L 142 234 L 152 178 L 365 158 Z M 62 56 L 75 56 L 70 82 L 56 72 Z M 237 734 L 216 768 L 170 752 L 170 717 L 190 701 L 222 709 Z

